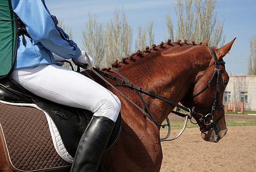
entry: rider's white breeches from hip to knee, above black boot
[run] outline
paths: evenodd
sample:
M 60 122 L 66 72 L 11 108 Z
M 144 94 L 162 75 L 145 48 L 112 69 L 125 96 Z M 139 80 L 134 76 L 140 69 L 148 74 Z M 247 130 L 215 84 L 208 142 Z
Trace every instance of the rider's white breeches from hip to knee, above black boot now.
M 108 89 L 80 73 L 57 65 L 14 70 L 10 77 L 37 96 L 92 111 L 116 121 L 121 102 Z

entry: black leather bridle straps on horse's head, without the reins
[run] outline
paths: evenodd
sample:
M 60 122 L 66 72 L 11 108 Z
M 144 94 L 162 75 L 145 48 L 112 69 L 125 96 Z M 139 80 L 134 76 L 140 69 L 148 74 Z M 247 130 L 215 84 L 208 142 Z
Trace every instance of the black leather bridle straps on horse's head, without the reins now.
M 209 47 L 210 48 L 210 47 Z M 215 96 L 214 96 L 214 100 L 213 100 L 213 105 L 212 105 L 212 110 L 209 111 L 208 114 L 206 115 L 202 115 L 202 114 L 199 114 L 197 112 L 195 112 L 195 107 L 193 107 L 192 111 L 191 111 L 191 115 L 193 117 L 197 117 L 199 118 L 199 120 L 202 122 L 204 121 L 204 124 L 206 126 L 209 126 L 208 128 L 205 128 L 205 129 L 202 129 L 200 128 L 200 131 L 201 132 L 206 132 L 208 130 L 210 130 L 211 128 L 213 128 L 217 122 L 219 122 L 219 120 L 221 118 L 223 118 L 224 116 L 224 112 L 223 114 L 220 116 L 219 119 L 217 120 L 213 120 L 213 113 L 214 111 L 216 111 L 217 109 L 222 109 L 224 108 L 224 105 L 221 104 L 221 105 L 217 105 L 218 104 L 218 99 L 219 99 L 219 94 L 220 94 L 220 77 L 221 77 L 221 73 L 220 73 L 220 68 L 219 68 L 219 65 L 224 65 L 225 64 L 225 61 L 218 61 L 217 59 L 217 55 L 216 53 L 214 52 L 214 50 L 212 48 L 210 48 L 212 50 L 212 53 L 213 53 L 213 57 L 214 57 L 214 64 L 215 64 L 215 69 L 214 69 L 214 72 L 212 74 L 212 77 L 210 78 L 210 80 L 208 81 L 208 84 L 205 85 L 205 87 L 202 89 L 202 91 L 198 92 L 197 94 L 191 96 L 189 99 L 193 99 L 194 97 L 197 97 L 199 96 L 202 92 L 204 92 L 208 87 L 210 87 L 210 83 L 212 82 L 213 78 L 215 75 L 217 75 L 217 80 L 216 80 L 216 91 L 215 91 Z M 208 118 L 212 118 L 210 120 L 209 123 L 206 123 L 206 119 Z

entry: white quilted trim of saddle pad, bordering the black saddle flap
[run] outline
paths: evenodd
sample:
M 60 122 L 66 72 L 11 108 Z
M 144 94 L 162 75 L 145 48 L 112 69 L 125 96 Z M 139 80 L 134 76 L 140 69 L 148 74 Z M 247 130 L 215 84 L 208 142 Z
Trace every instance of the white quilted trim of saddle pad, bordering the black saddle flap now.
M 47 114 L 46 111 L 42 110 L 40 107 L 38 107 L 36 104 L 29 104 L 29 103 L 10 103 L 7 101 L 2 101 L 0 100 L 1 103 L 3 104 L 8 104 L 8 105 L 18 105 L 22 107 L 33 107 L 36 108 L 37 110 L 40 110 L 44 112 L 44 115 L 46 115 L 46 119 L 48 122 L 48 126 L 51 132 L 51 138 L 52 138 L 52 143 L 54 143 L 55 150 L 59 154 L 59 156 L 66 162 L 68 163 L 73 163 L 74 158 L 71 157 L 71 155 L 67 152 L 66 147 L 64 146 L 61 135 L 59 134 L 58 128 L 56 127 L 55 123 L 51 119 L 50 115 Z

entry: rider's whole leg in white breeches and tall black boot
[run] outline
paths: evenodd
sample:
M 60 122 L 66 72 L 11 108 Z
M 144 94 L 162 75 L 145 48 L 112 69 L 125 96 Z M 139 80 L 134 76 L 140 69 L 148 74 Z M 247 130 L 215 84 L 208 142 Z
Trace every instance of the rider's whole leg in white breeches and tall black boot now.
M 71 171 L 96 171 L 121 108 L 118 97 L 80 73 L 57 65 L 14 70 L 10 77 L 37 96 L 94 113 Z

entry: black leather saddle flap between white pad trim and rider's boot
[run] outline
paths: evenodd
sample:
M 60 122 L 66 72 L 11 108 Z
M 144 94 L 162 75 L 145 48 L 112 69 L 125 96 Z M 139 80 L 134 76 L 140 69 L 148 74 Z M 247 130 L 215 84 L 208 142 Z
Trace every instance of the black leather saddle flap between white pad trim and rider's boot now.
M 78 143 L 92 117 L 91 111 L 81 110 L 48 100 L 33 99 L 54 121 L 67 152 L 74 157 Z

